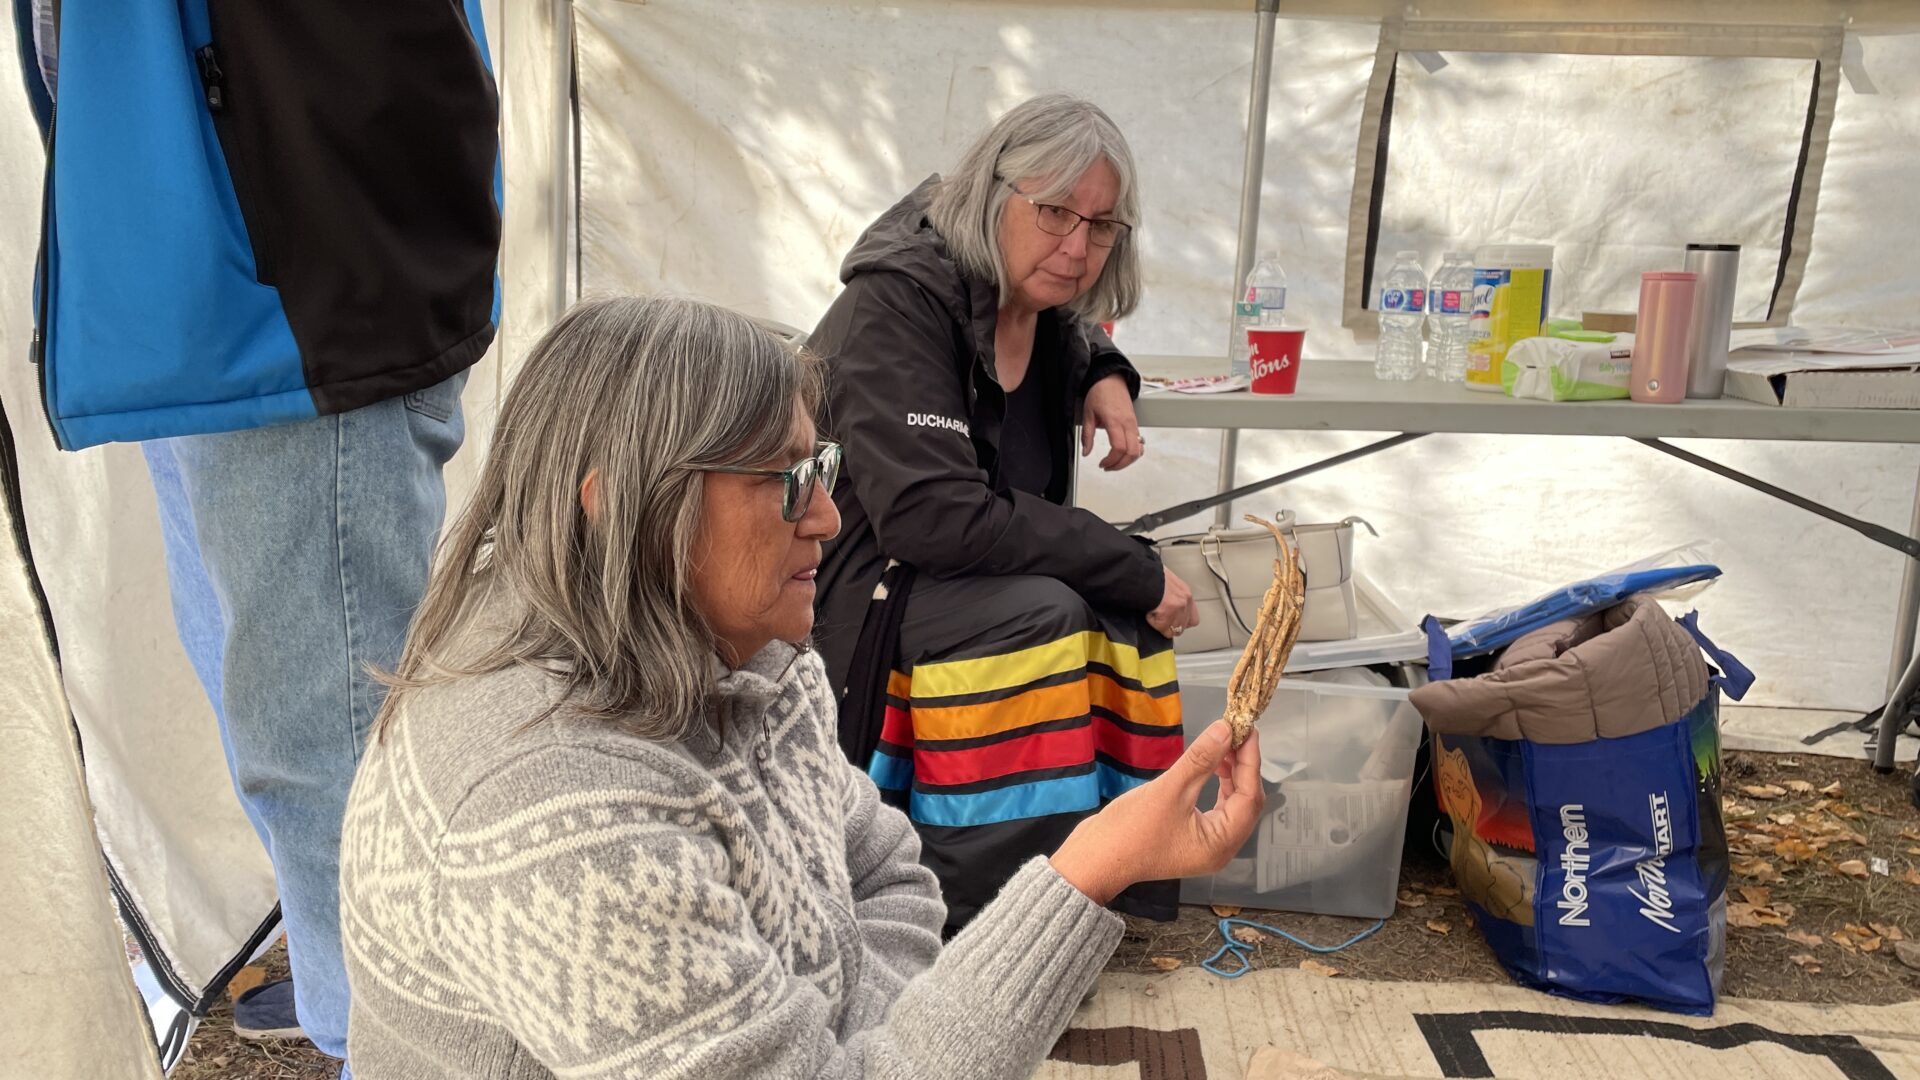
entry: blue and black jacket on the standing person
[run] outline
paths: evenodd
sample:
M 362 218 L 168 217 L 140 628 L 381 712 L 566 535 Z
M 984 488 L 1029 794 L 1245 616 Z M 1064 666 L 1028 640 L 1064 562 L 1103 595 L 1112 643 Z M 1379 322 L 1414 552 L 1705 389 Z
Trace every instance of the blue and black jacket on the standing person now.
M 33 0 L 13 4 L 60 446 L 342 413 L 486 352 L 499 100 L 478 0 L 67 0 L 54 92 Z

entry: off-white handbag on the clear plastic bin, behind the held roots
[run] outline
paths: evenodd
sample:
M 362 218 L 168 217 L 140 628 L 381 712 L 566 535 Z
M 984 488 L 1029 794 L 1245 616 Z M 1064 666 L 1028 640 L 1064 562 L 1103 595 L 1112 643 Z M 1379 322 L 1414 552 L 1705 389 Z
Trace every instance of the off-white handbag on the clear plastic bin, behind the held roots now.
M 1308 601 L 1300 615 L 1302 642 L 1338 642 L 1359 632 L 1354 601 L 1354 525 L 1379 532 L 1359 517 L 1331 525 L 1296 525 L 1294 511 L 1273 515 L 1294 548 L 1308 578 Z M 1248 528 L 1208 528 L 1187 536 L 1167 536 L 1154 544 L 1160 561 L 1194 592 L 1200 625 L 1173 638 L 1175 653 L 1242 648 L 1254 634 L 1260 600 L 1273 584 L 1273 561 L 1281 548 L 1273 534 Z

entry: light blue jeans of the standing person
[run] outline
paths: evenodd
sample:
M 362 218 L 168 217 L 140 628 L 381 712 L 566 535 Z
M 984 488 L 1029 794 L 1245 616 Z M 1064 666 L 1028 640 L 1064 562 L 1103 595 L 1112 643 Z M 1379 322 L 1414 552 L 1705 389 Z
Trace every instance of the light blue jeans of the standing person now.
M 273 859 L 300 1024 L 346 1057 L 340 819 L 465 434 L 455 375 L 351 413 L 148 442 L 180 644 Z

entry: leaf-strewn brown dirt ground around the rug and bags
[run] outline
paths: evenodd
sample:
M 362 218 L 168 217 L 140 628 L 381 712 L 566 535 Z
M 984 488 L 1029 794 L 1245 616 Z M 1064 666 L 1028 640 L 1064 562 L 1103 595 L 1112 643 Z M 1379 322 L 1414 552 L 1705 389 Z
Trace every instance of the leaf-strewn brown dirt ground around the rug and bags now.
M 1920 970 L 1895 955 L 1908 934 L 1920 940 L 1920 811 L 1908 803 L 1908 774 L 1878 776 L 1864 761 L 1837 757 L 1734 751 L 1726 755 L 1724 782 L 1736 869 L 1728 886 L 1724 992 L 1860 1005 L 1920 997 Z M 1885 861 L 1884 874 L 1874 859 Z M 1342 976 L 1400 982 L 1507 980 L 1452 894 L 1446 863 L 1428 846 L 1409 844 L 1400 899 L 1380 932 L 1340 953 L 1311 957 L 1290 942 L 1261 936 L 1252 963 L 1267 969 L 1313 959 Z M 1340 944 L 1371 924 L 1319 915 L 1240 915 L 1319 945 Z M 1206 907 L 1183 907 L 1177 922 L 1127 922 L 1108 970 L 1198 965 L 1221 945 L 1219 915 Z M 282 976 L 284 951 L 275 947 L 261 967 L 269 978 Z M 332 1080 L 336 1070 L 338 1063 L 305 1043 L 236 1040 L 227 1001 L 194 1032 L 173 1076 Z

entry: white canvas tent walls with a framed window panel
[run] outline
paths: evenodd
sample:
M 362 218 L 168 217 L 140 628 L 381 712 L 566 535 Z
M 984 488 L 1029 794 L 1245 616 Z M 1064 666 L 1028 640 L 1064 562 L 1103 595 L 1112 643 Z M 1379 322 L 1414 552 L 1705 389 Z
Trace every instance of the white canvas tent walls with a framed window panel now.
M 1369 252 L 1419 248 L 1430 263 L 1478 240 L 1553 242 L 1571 311 L 1632 307 L 1640 271 L 1711 238 L 1745 244 L 1761 269 L 1741 281 L 1741 319 L 1920 323 L 1910 4 L 1281 8 L 1256 138 L 1258 246 L 1283 254 L 1309 356 L 1371 352 Z M 495 10 L 490 35 L 507 306 L 467 388 L 455 500 L 511 359 L 568 298 L 674 290 L 810 327 L 860 229 L 1048 88 L 1098 100 L 1140 163 L 1148 296 L 1119 344 L 1221 348 L 1244 258 L 1250 2 L 528 2 Z M 38 142 L 12 56 L 0 65 L 0 282 L 17 298 L 0 306 L 0 356 L 17 357 Z M 184 1017 L 271 932 L 273 882 L 175 640 L 138 448 L 56 454 L 25 363 L 0 365 L 0 402 L 21 480 L 0 538 L 19 525 L 31 540 L 60 646 L 56 678 L 33 578 L 4 552 L 0 715 L 25 751 L 0 767 L 0 882 L 13 890 L 0 894 L 0 1076 L 152 1074 L 108 874 L 144 938 L 142 988 L 173 1053 Z M 1365 438 L 1248 436 L 1238 471 Z M 1715 454 L 1859 517 L 1899 527 L 1912 513 L 1912 446 Z M 1123 521 L 1208 490 L 1217 455 L 1215 434 L 1156 434 L 1148 461 L 1123 482 L 1085 475 L 1081 498 Z M 1761 703 L 1866 709 L 1885 696 L 1893 553 L 1632 446 L 1434 436 L 1284 500 L 1308 519 L 1365 515 L 1382 534 L 1363 548 L 1367 571 L 1405 607 L 1453 615 L 1716 538 L 1726 584 L 1703 617 L 1761 675 Z

